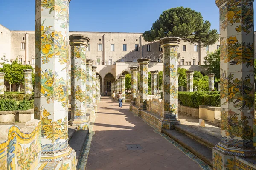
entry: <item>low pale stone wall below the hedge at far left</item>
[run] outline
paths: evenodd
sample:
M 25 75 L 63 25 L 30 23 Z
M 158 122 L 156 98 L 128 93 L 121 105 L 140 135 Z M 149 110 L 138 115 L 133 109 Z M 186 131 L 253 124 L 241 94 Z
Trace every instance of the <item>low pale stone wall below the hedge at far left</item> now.
M 34 109 L 26 111 L 0 111 L 0 123 L 25 123 L 34 119 Z

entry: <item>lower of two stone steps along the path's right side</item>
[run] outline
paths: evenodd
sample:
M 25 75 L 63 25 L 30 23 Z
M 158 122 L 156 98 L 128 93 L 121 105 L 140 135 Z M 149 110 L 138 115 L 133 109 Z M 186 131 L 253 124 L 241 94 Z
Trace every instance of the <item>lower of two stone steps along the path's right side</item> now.
M 174 129 L 164 129 L 163 133 L 178 142 L 183 147 L 187 148 L 190 152 L 195 154 L 195 156 L 198 156 L 198 158 L 202 159 L 205 163 L 212 166 L 212 149 Z

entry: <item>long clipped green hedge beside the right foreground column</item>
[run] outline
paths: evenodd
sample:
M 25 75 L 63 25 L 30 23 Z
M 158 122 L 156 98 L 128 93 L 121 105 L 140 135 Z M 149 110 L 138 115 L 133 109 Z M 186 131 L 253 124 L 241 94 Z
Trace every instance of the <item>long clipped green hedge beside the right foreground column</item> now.
M 195 91 L 195 92 L 179 92 L 178 100 L 182 105 L 198 108 L 199 105 L 220 107 L 220 92 L 218 91 Z

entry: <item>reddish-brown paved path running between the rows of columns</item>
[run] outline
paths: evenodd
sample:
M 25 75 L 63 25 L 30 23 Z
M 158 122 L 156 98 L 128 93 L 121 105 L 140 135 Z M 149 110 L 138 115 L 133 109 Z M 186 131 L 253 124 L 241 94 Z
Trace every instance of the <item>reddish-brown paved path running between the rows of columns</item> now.
M 200 170 L 188 156 L 139 117 L 129 103 L 102 96 L 93 126 L 86 170 Z M 127 150 L 126 144 L 141 144 L 142 150 Z

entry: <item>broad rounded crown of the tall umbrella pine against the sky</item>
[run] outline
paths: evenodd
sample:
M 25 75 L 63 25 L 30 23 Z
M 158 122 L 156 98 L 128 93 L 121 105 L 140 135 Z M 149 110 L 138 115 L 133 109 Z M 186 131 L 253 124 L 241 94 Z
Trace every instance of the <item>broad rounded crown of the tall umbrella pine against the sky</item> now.
M 203 46 L 214 44 L 219 34 L 210 29 L 211 23 L 204 21 L 199 12 L 190 8 L 171 8 L 160 15 L 149 31 L 143 33 L 146 41 L 159 40 L 163 37 L 177 36 L 191 43 Z

